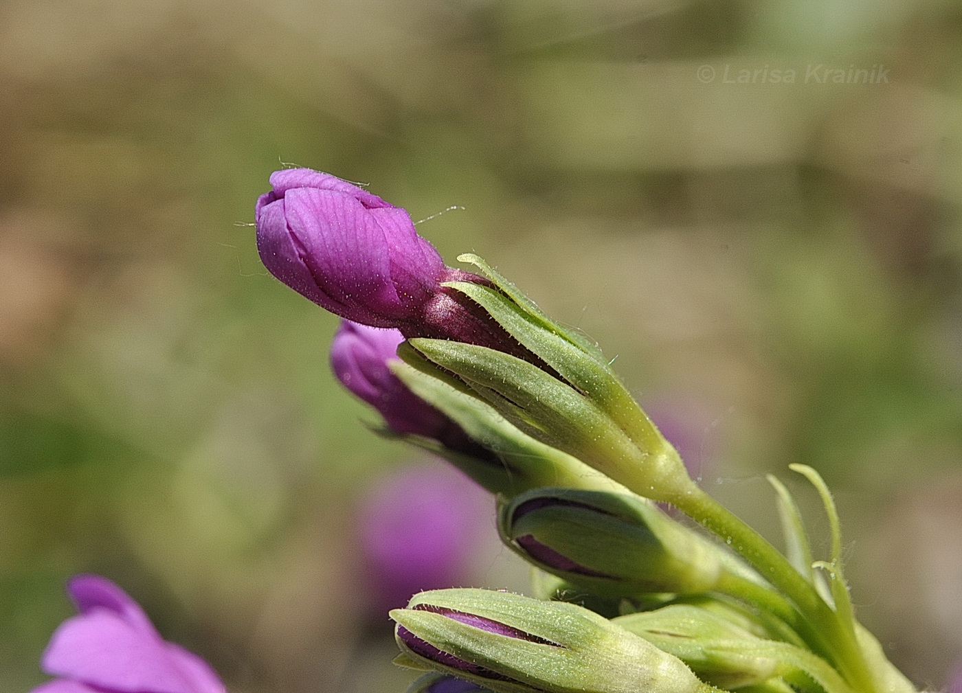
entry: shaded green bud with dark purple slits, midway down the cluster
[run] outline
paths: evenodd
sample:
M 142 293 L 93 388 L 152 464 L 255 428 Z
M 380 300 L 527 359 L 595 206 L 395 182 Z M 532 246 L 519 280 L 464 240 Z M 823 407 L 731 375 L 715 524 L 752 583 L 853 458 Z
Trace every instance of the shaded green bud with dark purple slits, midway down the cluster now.
M 645 499 L 539 488 L 498 510 L 502 540 L 545 571 L 602 596 L 716 589 L 721 547 Z

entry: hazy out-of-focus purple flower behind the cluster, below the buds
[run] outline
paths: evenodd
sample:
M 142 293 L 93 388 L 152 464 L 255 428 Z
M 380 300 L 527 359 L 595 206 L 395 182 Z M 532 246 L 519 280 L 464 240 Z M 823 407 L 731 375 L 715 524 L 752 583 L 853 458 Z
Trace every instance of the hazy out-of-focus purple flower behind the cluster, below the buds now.
M 494 524 L 492 496 L 440 462 L 393 470 L 358 508 L 371 608 L 406 606 L 427 589 L 468 581 Z

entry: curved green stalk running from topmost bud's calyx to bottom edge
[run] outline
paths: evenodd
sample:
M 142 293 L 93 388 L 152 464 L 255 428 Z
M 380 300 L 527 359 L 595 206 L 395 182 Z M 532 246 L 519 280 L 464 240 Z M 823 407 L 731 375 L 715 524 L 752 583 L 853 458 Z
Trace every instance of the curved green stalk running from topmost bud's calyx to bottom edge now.
M 726 544 L 745 557 L 766 580 L 794 602 L 807 622 L 807 627 L 801 628 L 799 634 L 834 662 L 853 688 L 862 693 L 875 693 L 873 677 L 851 631 L 841 622 L 839 615 L 825 604 L 812 583 L 806 581 L 786 557 L 694 483 L 686 493 L 672 498 L 671 503 L 722 537 Z

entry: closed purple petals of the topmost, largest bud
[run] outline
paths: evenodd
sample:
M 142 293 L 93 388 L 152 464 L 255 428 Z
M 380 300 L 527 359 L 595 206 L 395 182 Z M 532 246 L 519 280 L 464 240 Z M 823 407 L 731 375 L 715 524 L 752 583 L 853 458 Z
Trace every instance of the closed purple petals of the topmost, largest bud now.
M 318 306 L 374 327 L 416 319 L 444 263 L 407 211 L 307 168 L 277 171 L 257 201 L 257 247 L 277 279 Z

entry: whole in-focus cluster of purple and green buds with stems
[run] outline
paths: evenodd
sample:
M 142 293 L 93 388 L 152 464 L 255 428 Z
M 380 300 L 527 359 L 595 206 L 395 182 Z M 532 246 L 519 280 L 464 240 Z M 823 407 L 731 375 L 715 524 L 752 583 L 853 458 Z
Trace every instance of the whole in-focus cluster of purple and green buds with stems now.
M 793 465 L 823 496 L 827 561 L 778 480 L 791 558 L 708 496 L 597 346 L 484 260 L 445 266 L 404 210 L 328 174 L 271 184 L 261 258 L 344 319 L 337 377 L 385 434 L 497 493 L 501 540 L 539 569 L 540 599 L 443 589 L 394 609 L 396 661 L 433 670 L 412 692 L 913 693 L 854 618 L 813 469 Z

